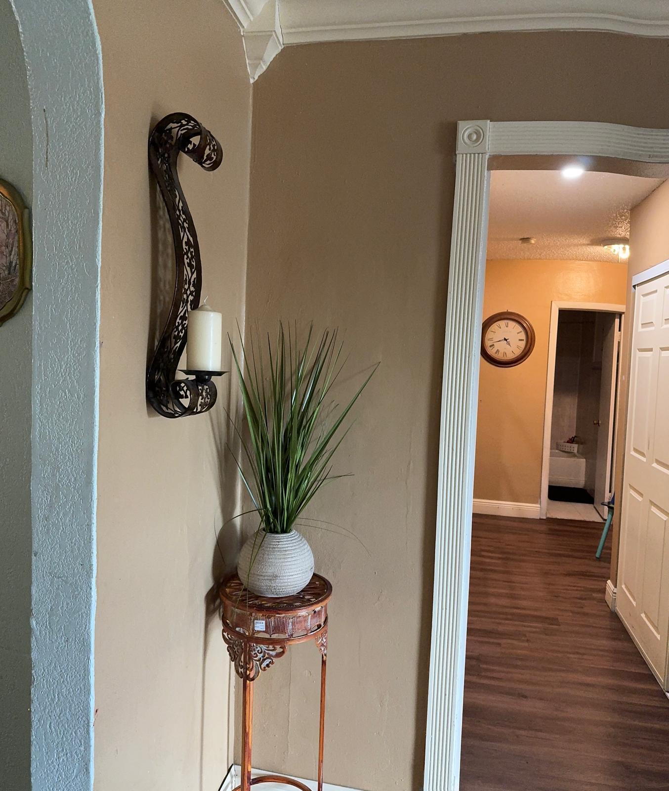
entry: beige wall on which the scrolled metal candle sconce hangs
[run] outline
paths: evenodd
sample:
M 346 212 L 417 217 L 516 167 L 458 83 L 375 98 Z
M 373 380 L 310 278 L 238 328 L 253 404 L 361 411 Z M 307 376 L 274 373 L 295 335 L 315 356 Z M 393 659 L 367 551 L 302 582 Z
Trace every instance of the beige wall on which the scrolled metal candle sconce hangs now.
M 215 534 L 235 508 L 222 449 L 232 380 L 220 380 L 213 416 L 167 420 L 147 407 L 149 316 L 161 274 L 172 283 L 174 269 L 146 145 L 157 120 L 183 110 L 225 149 L 216 172 L 181 157 L 180 173 L 203 295 L 232 331 L 244 319 L 251 86 L 218 0 L 94 5 L 106 103 L 95 787 L 214 791 L 232 762 L 229 662 L 205 597 L 221 571 Z

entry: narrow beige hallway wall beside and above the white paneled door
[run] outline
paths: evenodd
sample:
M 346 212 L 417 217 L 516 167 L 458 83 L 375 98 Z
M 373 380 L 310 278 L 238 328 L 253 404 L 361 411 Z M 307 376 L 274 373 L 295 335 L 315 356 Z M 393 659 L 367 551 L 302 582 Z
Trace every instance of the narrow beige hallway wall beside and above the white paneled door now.
M 629 396 L 629 348 L 634 317 L 634 292 L 632 278 L 635 274 L 654 267 L 669 259 L 669 180 L 648 195 L 629 218 L 629 262 L 627 267 L 627 312 L 626 330 L 622 333 L 621 370 L 622 380 L 618 394 L 618 422 L 616 426 L 616 476 L 615 490 L 622 491 L 622 475 L 625 460 L 625 437 L 627 430 L 627 402 Z M 620 501 L 620 498 L 618 498 Z M 611 574 L 618 577 L 618 544 L 620 541 L 620 509 L 616 509 L 611 531 Z

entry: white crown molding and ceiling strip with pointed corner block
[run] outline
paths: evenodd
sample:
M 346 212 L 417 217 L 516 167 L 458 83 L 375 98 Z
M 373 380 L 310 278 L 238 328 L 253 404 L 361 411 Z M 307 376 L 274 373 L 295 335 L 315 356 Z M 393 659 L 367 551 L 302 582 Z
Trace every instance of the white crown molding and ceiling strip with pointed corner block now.
M 284 46 L 463 33 L 581 30 L 669 37 L 657 0 L 224 0 L 244 37 L 251 82 Z M 550 10 L 546 6 L 550 5 Z

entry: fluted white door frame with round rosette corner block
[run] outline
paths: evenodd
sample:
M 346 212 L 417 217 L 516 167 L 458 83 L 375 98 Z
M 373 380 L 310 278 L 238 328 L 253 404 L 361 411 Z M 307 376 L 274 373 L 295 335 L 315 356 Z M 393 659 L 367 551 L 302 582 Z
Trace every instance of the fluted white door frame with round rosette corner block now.
M 528 154 L 667 164 L 669 130 L 590 121 L 458 124 L 423 791 L 459 789 L 489 157 Z

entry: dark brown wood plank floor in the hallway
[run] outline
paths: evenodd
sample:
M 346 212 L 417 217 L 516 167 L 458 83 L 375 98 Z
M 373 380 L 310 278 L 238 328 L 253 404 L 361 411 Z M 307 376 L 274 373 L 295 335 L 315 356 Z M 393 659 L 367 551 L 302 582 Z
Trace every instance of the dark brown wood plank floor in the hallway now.
M 474 517 L 462 791 L 669 789 L 669 700 L 603 600 L 600 532 Z

